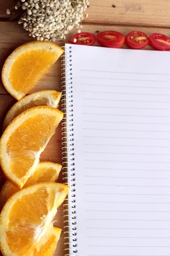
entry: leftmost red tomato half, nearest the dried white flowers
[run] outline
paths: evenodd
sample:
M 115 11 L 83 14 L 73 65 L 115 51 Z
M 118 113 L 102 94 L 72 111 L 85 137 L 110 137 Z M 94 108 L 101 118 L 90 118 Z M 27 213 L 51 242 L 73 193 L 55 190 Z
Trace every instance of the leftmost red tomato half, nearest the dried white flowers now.
M 76 41 L 74 39 L 76 39 Z M 95 41 L 96 41 L 95 35 L 89 32 L 78 33 L 73 35 L 73 37 L 71 38 L 72 44 L 93 45 Z

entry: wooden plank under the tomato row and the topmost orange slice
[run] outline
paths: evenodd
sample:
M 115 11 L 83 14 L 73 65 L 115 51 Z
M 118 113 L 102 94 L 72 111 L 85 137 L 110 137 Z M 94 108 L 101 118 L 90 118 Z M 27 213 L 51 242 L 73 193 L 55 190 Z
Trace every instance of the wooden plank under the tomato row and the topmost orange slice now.
M 88 31 L 97 35 L 97 31 L 101 32 L 104 30 L 116 30 L 124 35 L 126 35 L 131 30 L 136 29 L 133 26 L 113 26 L 113 25 L 100 25 L 100 24 L 85 24 L 82 31 Z M 143 32 L 146 32 L 147 35 L 150 35 L 153 32 L 161 32 L 170 36 L 170 31 L 168 28 L 149 28 L 142 27 L 138 28 Z M 66 41 L 56 41 L 60 46 L 63 46 L 64 43 L 69 43 L 70 38 L 76 30 L 73 30 L 68 35 Z M 9 56 L 9 54 L 21 44 L 32 41 L 33 38 L 29 37 L 28 32 L 26 32 L 22 26 L 17 24 L 17 22 L 0 22 L 0 70 Z M 95 46 L 99 46 L 98 42 L 95 43 Z M 124 45 L 126 48 L 126 45 Z M 149 45 L 145 49 L 152 49 Z M 36 87 L 31 91 L 44 90 L 44 89 L 54 89 L 61 91 L 61 60 L 58 60 L 49 70 L 49 72 L 43 76 L 42 79 L 37 83 Z M 30 92 L 30 93 L 31 93 Z M 7 91 L 3 87 L 2 81 L 0 81 L 0 93 L 6 93 Z

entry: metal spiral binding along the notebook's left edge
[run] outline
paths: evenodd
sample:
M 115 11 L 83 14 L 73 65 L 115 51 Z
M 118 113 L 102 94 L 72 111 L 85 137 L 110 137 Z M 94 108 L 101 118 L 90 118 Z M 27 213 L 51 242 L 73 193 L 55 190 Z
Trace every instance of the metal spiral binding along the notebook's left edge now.
M 64 228 L 66 231 L 64 234 L 66 237 L 66 254 L 65 256 L 78 256 L 77 250 L 77 227 L 76 227 L 76 194 L 75 194 L 75 153 L 74 153 L 74 128 L 73 128 L 73 100 L 72 100 L 72 47 L 65 48 L 65 54 L 61 56 L 61 88 L 62 88 L 62 99 L 61 107 L 64 113 L 62 121 L 62 160 L 63 160 L 63 181 L 64 184 L 70 186 L 70 192 L 65 199 L 64 204 Z M 66 58 L 67 57 L 67 58 Z M 68 61 L 67 61 L 68 59 Z M 67 74 L 67 78 L 66 78 Z M 68 85 L 66 86 L 66 79 L 68 79 Z

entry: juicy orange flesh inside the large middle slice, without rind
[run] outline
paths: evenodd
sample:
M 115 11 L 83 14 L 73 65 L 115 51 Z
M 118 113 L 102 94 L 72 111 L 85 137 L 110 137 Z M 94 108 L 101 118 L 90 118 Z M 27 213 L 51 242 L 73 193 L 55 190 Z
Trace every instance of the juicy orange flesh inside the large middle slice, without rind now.
M 52 136 L 55 127 L 56 116 L 37 114 L 13 132 L 7 143 L 7 154 L 10 169 L 16 177 L 26 175 L 35 161 L 37 151 Z

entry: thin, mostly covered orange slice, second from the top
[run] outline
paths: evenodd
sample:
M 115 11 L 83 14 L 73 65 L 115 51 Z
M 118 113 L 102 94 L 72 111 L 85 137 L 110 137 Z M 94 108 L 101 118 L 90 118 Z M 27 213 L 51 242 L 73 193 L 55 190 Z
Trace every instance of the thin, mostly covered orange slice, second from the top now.
M 49 106 L 58 108 L 60 99 L 61 93 L 55 90 L 42 90 L 29 94 L 28 96 L 15 103 L 9 110 L 3 122 L 3 131 L 10 124 L 10 122 L 12 122 L 12 120 L 23 111 L 37 106 Z

